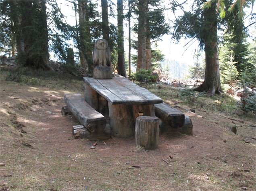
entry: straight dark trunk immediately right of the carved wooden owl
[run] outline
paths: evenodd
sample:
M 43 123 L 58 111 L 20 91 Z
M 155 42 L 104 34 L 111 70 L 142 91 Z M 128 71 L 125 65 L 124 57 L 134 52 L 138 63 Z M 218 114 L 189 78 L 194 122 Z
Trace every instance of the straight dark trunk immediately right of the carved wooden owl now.
M 127 77 L 123 41 L 123 0 L 117 0 L 117 73 Z

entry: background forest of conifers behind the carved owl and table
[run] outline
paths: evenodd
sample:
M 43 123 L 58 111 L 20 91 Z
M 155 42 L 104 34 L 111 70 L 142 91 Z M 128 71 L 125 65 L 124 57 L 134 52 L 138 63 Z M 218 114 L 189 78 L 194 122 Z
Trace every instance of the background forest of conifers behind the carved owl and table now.
M 248 87 L 255 94 L 252 88 L 256 83 L 256 37 L 249 31 L 256 24 L 254 0 L 173 0 L 169 3 L 66 0 L 65 3 L 75 11 L 73 25 L 68 24 L 61 12 L 63 1 L 2 0 L 1 52 L 4 56 L 16 56 L 20 66 L 53 70 L 52 55 L 62 70 L 75 76 L 91 76 L 94 42 L 103 38 L 111 50 L 112 69 L 118 74 L 147 83 L 159 77 L 162 69 L 167 73 L 166 79 L 170 73 L 176 73 L 175 77 L 179 75 L 180 79 L 180 64 L 170 61 L 164 64 L 165 55 L 157 46 L 164 35 L 171 35 L 176 43 L 188 39 L 184 46 L 187 48 L 191 42 L 198 43 L 194 66 L 189 72 L 192 79 L 204 78 L 204 82 L 194 90 L 213 96 L 230 88 L 243 87 L 245 92 Z M 248 14 L 244 12 L 246 8 L 251 10 Z M 167 18 L 165 13 L 169 10 L 173 16 Z M 117 20 L 117 25 L 113 20 Z M 124 38 L 124 21 L 128 21 L 125 31 L 128 39 Z M 124 47 L 127 41 L 128 53 Z M 131 54 L 133 50 L 135 54 Z M 182 67 L 183 78 L 187 78 Z M 158 74 L 152 76 L 154 70 Z

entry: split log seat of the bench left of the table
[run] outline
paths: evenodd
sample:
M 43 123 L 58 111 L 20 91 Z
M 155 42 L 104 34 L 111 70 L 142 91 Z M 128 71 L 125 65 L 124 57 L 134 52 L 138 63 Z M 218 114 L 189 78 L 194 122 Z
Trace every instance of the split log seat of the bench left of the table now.
M 75 118 L 91 134 L 103 133 L 106 126 L 106 118 L 87 104 L 80 93 L 67 93 L 64 95 L 64 101 Z

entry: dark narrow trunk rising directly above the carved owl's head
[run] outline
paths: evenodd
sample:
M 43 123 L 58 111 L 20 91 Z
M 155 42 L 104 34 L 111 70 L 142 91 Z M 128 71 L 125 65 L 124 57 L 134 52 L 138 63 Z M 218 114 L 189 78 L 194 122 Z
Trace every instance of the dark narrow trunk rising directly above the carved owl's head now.
M 108 0 L 101 0 L 102 37 L 109 43 Z

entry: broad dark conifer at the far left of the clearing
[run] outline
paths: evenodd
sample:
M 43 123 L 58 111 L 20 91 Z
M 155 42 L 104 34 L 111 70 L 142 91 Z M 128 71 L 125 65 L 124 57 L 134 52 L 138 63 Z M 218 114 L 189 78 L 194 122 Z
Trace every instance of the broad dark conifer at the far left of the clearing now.
M 8 1 L 9 18 L 16 34 L 18 63 L 34 68 L 49 67 L 46 1 Z

